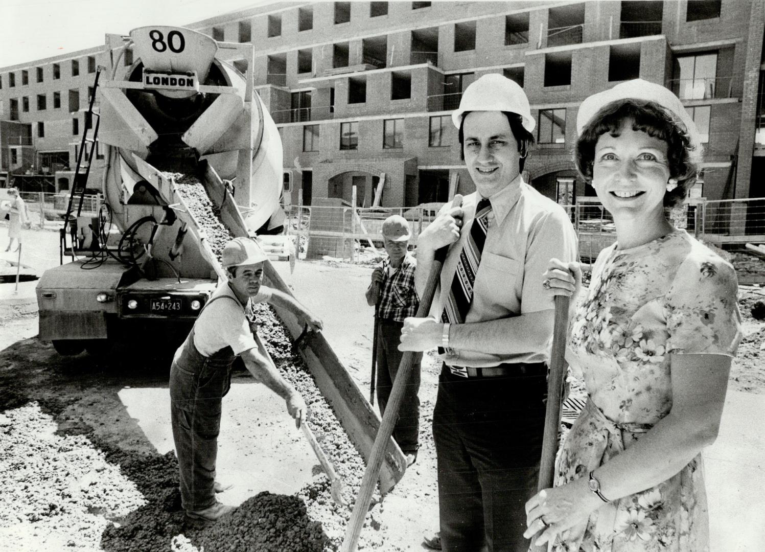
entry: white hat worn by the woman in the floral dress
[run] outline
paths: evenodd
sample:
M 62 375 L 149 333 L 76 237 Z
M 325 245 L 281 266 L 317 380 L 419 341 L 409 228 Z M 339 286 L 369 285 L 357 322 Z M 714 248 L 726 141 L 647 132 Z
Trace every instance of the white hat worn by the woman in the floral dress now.
M 643 79 L 633 79 L 628 80 L 626 83 L 619 83 L 614 88 L 598 92 L 584 100 L 581 106 L 579 106 L 579 113 L 576 116 L 577 134 L 581 136 L 584 127 L 588 125 L 601 108 L 609 103 L 630 98 L 658 103 L 659 106 L 662 106 L 682 121 L 682 124 L 688 129 L 688 136 L 690 136 L 692 145 L 698 147 L 701 143 L 696 124 L 688 112 L 685 111 L 685 107 L 682 106 L 682 102 L 678 97 L 668 88 L 662 87 L 660 84 L 649 83 Z

